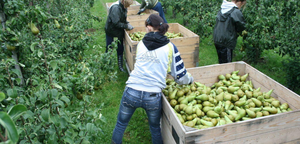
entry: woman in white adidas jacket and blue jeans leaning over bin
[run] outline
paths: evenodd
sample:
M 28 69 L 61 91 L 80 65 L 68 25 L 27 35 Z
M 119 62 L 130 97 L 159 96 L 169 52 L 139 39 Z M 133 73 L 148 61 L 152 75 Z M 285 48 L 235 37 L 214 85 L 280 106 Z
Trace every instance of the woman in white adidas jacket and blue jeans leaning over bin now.
M 152 143 L 161 144 L 161 91 L 166 87 L 167 73 L 177 84 L 191 84 L 193 77 L 186 71 L 180 54 L 164 34 L 169 25 L 155 14 L 145 22 L 147 34 L 137 45 L 136 62 L 123 92 L 112 144 L 122 143 L 124 131 L 138 107 L 145 109 Z

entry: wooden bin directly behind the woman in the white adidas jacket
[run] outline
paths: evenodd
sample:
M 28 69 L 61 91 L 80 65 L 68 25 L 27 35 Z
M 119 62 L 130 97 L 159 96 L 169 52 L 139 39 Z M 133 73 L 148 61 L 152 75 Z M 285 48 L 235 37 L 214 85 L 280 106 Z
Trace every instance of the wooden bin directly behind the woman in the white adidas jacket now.
M 170 26 L 168 32 L 171 33 L 180 32 L 183 34 L 182 38 L 173 38 L 170 39 L 170 42 L 177 47 L 180 56 L 184 62 L 184 67 L 185 68 L 197 67 L 199 62 L 199 36 L 178 23 L 169 23 L 168 25 Z M 126 63 L 128 65 L 127 69 L 129 72 L 134 69 L 137 44 L 139 43 L 138 41 L 131 40 L 129 34 L 137 31 L 145 32 L 146 27 L 137 26 L 131 31 L 125 30 L 125 38 L 124 38 L 125 57 L 126 57 Z

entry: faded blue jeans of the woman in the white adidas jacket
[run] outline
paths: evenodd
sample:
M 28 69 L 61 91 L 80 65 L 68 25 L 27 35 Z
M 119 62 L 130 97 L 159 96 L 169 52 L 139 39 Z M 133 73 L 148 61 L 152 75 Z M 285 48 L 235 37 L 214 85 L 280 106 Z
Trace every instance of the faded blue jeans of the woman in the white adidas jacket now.
M 125 87 L 123 92 L 117 123 L 113 130 L 113 142 L 117 144 L 122 143 L 123 134 L 128 122 L 138 107 L 142 107 L 147 113 L 152 143 L 162 144 L 160 128 L 161 93 L 144 92 L 134 90 L 130 87 Z

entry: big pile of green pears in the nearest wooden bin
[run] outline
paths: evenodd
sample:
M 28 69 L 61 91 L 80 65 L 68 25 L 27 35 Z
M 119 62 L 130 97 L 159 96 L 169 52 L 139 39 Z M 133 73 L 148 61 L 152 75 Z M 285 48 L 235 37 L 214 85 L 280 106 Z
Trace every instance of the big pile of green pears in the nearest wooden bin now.
M 162 90 L 182 125 L 196 129 L 210 128 L 292 111 L 287 103 L 271 97 L 273 90 L 261 92 L 246 81 L 249 74 L 218 75 L 219 81 L 211 87 L 200 82 L 178 85 L 167 79 Z

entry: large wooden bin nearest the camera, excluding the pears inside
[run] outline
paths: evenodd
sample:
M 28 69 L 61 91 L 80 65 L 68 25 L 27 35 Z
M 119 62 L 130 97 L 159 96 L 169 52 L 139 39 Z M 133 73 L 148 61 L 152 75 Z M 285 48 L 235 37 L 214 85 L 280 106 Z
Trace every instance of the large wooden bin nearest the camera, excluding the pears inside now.
M 187 69 L 194 81 L 211 86 L 219 81 L 217 76 L 232 71 L 239 75 L 249 73 L 254 88 L 268 92 L 271 96 L 288 103 L 293 111 L 263 116 L 205 129 L 183 126 L 163 96 L 161 133 L 165 144 L 195 143 L 300 143 L 300 96 L 244 62 L 215 64 Z

